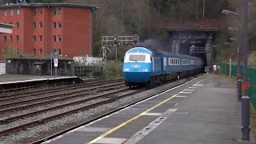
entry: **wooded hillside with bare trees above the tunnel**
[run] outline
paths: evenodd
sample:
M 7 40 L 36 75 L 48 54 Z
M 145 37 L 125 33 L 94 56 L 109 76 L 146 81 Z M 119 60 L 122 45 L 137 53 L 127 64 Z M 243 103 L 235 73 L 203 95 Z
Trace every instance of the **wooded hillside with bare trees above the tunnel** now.
M 11 0 L 0 0 L 0 3 Z M 218 61 L 235 59 L 237 43 L 225 46 L 229 38 L 238 33 L 226 30 L 228 26 L 238 29 L 239 18 L 221 14 L 233 10 L 240 14 L 243 31 L 243 0 L 30 0 L 27 2 L 67 2 L 97 5 L 94 12 L 94 56 L 98 56 L 102 35 L 138 34 L 140 40 L 168 38 L 169 28 L 216 28 L 220 32 L 214 45 L 219 46 Z M 249 0 L 249 44 L 256 49 L 256 1 Z M 242 37 L 243 44 L 243 37 Z M 243 48 L 243 45 L 242 45 Z M 215 50 L 217 54 L 217 50 Z M 214 57 L 216 58 L 216 57 Z

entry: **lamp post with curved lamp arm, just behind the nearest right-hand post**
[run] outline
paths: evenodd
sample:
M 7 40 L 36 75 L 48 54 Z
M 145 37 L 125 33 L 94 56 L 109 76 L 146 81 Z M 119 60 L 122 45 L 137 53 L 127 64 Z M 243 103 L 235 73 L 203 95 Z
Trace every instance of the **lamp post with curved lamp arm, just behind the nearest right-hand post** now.
M 240 14 L 235 13 L 233 11 L 230 10 L 222 10 L 222 14 L 227 14 L 227 15 L 237 15 L 239 16 L 239 23 L 238 23 L 238 30 L 234 29 L 232 27 L 228 27 L 227 30 L 230 31 L 238 31 L 239 34 L 239 38 L 235 39 L 235 38 L 230 38 L 231 41 L 237 41 L 238 42 L 238 67 L 237 67 L 237 83 L 238 83 L 238 101 L 241 101 L 242 98 L 242 74 L 241 74 L 241 54 L 240 54 L 240 47 L 241 47 L 241 39 L 242 39 L 242 32 L 241 32 L 241 18 L 240 18 Z

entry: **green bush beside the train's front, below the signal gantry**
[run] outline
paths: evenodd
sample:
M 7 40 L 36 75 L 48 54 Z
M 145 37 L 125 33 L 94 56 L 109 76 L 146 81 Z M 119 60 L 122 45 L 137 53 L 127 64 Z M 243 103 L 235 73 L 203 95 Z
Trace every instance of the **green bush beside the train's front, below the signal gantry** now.
M 107 61 L 106 70 L 103 69 L 103 78 L 106 80 L 122 78 L 123 62 Z

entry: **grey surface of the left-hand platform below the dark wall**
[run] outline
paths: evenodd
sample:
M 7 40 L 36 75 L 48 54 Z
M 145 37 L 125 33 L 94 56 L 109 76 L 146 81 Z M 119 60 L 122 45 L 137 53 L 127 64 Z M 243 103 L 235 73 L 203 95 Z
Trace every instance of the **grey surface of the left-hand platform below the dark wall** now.
M 72 76 L 47 76 L 47 75 L 26 75 L 26 74 L 0 74 L 0 83 L 39 80 L 43 78 L 67 78 Z

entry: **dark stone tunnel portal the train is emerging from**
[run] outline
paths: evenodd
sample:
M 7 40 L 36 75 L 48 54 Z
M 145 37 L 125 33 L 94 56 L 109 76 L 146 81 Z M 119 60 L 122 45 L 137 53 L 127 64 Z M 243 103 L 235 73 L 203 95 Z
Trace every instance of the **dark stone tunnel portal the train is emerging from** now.
M 169 29 L 171 52 L 205 59 L 206 66 L 213 62 L 212 42 L 216 29 Z

